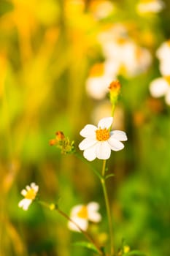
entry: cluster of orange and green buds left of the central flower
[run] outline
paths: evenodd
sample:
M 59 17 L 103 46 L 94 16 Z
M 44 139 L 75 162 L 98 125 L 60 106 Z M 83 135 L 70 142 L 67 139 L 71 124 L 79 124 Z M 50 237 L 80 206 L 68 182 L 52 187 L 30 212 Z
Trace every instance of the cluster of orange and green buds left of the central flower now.
M 74 141 L 70 141 L 66 138 L 63 132 L 55 132 L 55 139 L 50 140 L 50 146 L 56 146 L 61 149 L 61 154 L 74 153 Z

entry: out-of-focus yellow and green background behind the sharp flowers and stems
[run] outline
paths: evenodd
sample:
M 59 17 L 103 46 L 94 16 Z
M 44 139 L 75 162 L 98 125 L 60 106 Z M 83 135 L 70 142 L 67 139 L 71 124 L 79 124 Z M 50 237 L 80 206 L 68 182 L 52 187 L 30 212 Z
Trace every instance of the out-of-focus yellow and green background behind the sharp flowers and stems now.
M 170 109 L 150 95 L 150 82 L 161 76 L 155 53 L 169 39 L 170 9 L 168 0 L 142 6 L 148 2 L 0 1 L 1 256 L 93 255 L 73 246 L 84 238 L 57 212 L 36 203 L 18 208 L 32 181 L 42 200 L 60 198 L 67 214 L 100 203 L 102 222 L 89 233 L 107 241 L 98 178 L 49 140 L 62 131 L 79 151 L 82 127 L 111 113 L 107 87 L 115 78 L 122 89 L 113 129 L 128 135 L 108 161 L 115 247 L 125 239 L 146 255 L 170 255 Z M 98 159 L 92 165 L 101 168 Z

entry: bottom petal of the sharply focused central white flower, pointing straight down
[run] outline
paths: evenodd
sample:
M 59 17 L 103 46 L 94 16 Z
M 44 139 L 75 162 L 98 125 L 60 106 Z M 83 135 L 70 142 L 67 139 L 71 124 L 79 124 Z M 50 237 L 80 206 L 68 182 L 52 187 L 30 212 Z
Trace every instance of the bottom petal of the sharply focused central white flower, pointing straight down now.
M 96 157 L 98 159 L 109 159 L 111 154 L 111 148 L 107 141 L 101 141 L 96 146 Z

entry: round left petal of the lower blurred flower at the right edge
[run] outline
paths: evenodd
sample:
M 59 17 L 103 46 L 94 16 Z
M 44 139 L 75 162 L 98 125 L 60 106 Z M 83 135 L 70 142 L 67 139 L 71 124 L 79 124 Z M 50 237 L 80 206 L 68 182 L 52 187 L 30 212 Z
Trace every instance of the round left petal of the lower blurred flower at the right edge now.
M 169 83 L 164 78 L 157 78 L 150 83 L 150 93 L 153 97 L 161 97 L 169 89 Z

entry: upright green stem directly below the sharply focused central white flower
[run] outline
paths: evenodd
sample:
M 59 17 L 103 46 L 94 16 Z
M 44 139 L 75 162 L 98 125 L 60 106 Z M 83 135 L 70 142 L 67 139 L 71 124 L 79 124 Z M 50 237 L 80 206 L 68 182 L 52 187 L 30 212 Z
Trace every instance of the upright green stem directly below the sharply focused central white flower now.
M 110 240 L 110 256 L 114 255 L 114 247 L 113 247 L 113 233 L 112 233 L 112 217 L 111 211 L 109 206 L 109 197 L 107 193 L 106 187 L 106 179 L 105 179 L 105 170 L 106 170 L 107 160 L 104 160 L 103 167 L 102 167 L 102 178 L 101 178 L 101 185 L 104 192 L 104 200 L 107 208 L 107 218 L 108 218 L 108 225 L 109 225 L 109 240 Z

